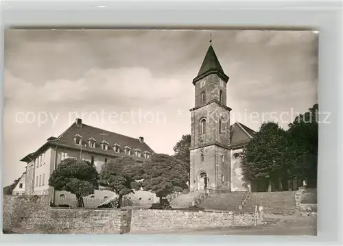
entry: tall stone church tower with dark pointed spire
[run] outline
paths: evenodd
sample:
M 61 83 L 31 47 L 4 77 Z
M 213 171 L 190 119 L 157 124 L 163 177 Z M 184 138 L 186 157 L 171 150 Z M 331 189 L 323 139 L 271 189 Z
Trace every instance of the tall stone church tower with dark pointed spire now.
M 209 46 L 195 86 L 191 111 L 190 189 L 230 191 L 230 108 L 226 106 L 224 73 Z

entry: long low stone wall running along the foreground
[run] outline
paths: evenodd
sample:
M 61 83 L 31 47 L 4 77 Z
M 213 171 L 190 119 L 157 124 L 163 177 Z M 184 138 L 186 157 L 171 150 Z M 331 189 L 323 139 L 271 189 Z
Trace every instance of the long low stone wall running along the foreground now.
M 51 208 L 44 197 L 5 196 L 3 199 L 4 232 L 123 234 L 256 224 L 255 213 Z

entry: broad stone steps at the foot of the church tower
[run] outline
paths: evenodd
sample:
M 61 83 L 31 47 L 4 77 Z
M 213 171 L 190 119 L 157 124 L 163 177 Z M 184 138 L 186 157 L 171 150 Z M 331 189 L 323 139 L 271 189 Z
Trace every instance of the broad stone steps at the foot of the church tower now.
M 214 193 L 200 204 L 205 210 L 226 210 L 237 212 L 245 191 Z

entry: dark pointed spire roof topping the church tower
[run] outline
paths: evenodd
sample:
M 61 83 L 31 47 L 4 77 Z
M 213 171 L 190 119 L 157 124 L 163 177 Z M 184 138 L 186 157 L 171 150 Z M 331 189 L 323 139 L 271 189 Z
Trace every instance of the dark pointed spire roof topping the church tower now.
M 209 49 L 206 52 L 204 61 L 202 62 L 202 65 L 200 67 L 199 73 L 197 77 L 194 80 L 200 79 L 200 77 L 203 77 L 204 75 L 207 75 L 209 73 L 219 73 L 224 77 L 224 79 L 228 79 L 228 76 L 224 73 L 224 70 L 222 69 L 222 65 L 220 65 L 220 62 L 217 58 L 217 55 L 215 55 L 215 51 L 210 45 Z

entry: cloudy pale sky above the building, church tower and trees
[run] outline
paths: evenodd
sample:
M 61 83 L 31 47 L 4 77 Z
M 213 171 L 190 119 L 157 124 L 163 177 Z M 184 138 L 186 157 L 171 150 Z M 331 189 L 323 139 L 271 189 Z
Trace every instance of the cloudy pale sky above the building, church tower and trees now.
M 194 86 L 210 45 L 230 79 L 231 123 L 287 129 L 317 103 L 318 34 L 257 30 L 5 30 L 3 185 L 21 158 L 75 118 L 138 138 L 156 153 L 191 127 Z

